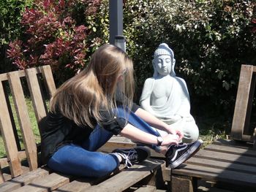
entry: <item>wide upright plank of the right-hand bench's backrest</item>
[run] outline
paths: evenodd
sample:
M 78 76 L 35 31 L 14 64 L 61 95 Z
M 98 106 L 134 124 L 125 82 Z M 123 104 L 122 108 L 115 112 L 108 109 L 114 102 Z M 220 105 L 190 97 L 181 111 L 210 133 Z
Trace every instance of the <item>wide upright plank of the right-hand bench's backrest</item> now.
M 232 139 L 242 140 L 244 126 L 246 126 L 246 112 L 248 108 L 249 93 L 251 88 L 253 66 L 242 65 L 236 96 L 236 106 L 231 129 Z

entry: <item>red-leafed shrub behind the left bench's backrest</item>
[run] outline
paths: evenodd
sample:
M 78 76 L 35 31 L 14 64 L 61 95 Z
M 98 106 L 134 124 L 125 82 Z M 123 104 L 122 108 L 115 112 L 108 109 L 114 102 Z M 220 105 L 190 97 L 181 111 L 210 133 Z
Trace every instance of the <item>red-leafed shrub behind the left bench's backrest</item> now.
M 79 8 L 84 18 L 95 15 L 100 1 L 36 0 L 23 12 L 20 39 L 10 42 L 7 51 L 19 69 L 50 64 L 56 76 L 67 79 L 86 63 L 91 29 L 72 18 Z M 79 13 L 81 15 L 81 13 Z M 86 23 L 84 23 L 86 24 Z

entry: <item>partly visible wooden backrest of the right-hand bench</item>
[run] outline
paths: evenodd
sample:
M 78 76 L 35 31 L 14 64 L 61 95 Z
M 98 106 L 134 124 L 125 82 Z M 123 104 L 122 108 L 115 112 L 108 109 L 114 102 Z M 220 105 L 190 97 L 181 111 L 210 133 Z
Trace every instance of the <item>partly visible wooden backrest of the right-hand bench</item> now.
M 249 123 L 255 86 L 256 66 L 242 65 L 231 129 L 231 138 L 234 140 L 253 142 L 254 128 L 250 127 Z

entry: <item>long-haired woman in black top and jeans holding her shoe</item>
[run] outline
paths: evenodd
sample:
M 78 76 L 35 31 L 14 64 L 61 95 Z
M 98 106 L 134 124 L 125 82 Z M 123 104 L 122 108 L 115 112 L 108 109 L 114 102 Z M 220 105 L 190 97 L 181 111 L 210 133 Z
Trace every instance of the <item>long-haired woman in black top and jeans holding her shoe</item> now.
M 172 169 L 199 150 L 201 140 L 178 144 L 183 134 L 132 103 L 133 93 L 132 60 L 116 46 L 99 47 L 86 69 L 50 100 L 47 125 L 40 129 L 42 163 L 64 174 L 102 177 L 150 155 L 146 147 L 97 152 L 113 134 L 164 154 Z M 161 137 L 151 126 L 169 134 Z

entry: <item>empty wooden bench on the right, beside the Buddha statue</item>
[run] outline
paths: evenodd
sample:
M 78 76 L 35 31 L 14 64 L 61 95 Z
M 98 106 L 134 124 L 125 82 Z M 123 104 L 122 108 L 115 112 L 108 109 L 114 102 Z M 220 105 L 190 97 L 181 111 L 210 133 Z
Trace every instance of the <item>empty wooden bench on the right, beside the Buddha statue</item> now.
M 197 181 L 233 191 L 256 191 L 256 129 L 249 128 L 256 66 L 241 66 L 231 140 L 219 139 L 171 172 L 172 191 L 196 191 Z

